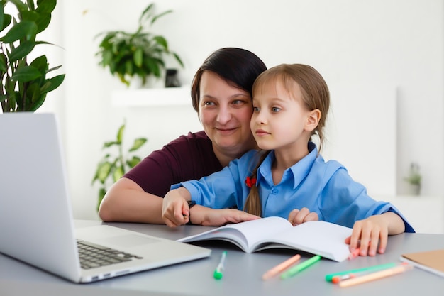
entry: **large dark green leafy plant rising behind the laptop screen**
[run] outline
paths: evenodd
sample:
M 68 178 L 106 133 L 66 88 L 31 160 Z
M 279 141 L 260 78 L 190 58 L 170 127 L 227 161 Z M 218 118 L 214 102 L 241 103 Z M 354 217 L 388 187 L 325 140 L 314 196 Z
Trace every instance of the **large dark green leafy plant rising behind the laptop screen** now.
M 5 13 L 7 4 L 15 6 L 16 15 Z M 6 32 L 0 36 L 0 104 L 3 112 L 37 110 L 45 102 L 46 94 L 57 89 L 65 78 L 65 74 L 47 77 L 49 72 L 61 66 L 49 68 L 46 55 L 28 62 L 28 55 L 35 45 L 50 44 L 35 38 L 48 28 L 56 4 L 57 0 L 1 1 L 0 32 Z

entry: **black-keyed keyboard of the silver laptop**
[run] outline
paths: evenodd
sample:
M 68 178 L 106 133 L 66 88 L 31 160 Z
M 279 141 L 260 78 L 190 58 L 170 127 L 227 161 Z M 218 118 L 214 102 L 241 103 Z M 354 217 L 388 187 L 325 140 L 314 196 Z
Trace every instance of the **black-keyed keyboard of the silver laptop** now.
M 77 240 L 77 248 L 79 249 L 80 266 L 83 269 L 98 268 L 104 265 L 131 261 L 133 258 L 142 258 L 79 239 Z

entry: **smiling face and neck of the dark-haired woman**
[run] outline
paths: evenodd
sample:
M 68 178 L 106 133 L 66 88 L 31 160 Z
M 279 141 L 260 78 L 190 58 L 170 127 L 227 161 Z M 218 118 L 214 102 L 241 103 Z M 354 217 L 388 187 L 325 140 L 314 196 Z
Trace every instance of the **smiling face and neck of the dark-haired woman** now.
M 202 74 L 199 119 L 219 160 L 221 154 L 234 159 L 257 147 L 250 130 L 251 115 L 248 92 L 233 87 L 214 72 Z

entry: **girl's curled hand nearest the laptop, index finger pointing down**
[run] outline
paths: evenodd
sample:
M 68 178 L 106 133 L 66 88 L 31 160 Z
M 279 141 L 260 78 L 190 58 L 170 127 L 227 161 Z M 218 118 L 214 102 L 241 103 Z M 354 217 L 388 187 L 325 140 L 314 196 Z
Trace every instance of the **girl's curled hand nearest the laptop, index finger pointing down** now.
M 189 221 L 188 201 L 191 196 L 184 187 L 168 192 L 162 202 L 162 220 L 170 227 L 187 224 Z

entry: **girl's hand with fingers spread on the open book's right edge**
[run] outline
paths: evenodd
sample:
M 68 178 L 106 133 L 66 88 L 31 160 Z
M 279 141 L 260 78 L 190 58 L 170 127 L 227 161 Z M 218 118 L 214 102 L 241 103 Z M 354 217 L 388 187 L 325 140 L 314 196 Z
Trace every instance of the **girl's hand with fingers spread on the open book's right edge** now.
M 350 244 L 351 253 L 359 248 L 360 256 L 375 256 L 376 253 L 385 252 L 389 235 L 404 231 L 404 220 L 394 212 L 385 212 L 356 221 L 352 235 L 345 239 L 345 243 Z

